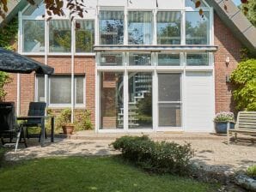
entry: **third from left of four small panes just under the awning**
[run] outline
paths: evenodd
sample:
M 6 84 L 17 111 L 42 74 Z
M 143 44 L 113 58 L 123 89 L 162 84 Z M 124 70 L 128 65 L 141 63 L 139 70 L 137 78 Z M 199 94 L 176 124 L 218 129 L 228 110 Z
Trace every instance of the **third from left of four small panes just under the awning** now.
M 159 66 L 179 66 L 180 54 L 158 54 Z

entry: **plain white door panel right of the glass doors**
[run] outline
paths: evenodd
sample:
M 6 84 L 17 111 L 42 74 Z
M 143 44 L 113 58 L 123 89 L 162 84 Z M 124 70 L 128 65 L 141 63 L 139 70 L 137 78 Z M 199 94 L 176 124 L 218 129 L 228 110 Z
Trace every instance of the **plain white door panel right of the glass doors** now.
M 212 132 L 214 86 L 211 72 L 186 72 L 185 131 Z

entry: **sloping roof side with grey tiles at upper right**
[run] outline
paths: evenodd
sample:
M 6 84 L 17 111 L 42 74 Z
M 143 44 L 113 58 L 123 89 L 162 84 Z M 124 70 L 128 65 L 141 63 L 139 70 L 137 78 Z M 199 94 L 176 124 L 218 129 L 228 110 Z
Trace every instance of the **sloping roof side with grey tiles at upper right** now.
M 241 9 L 235 6 L 233 1 L 226 0 L 206 0 L 210 7 L 216 11 L 223 23 L 234 33 L 235 37 L 247 47 L 249 51 L 256 55 L 256 27 L 247 20 Z M 228 10 L 224 9 L 224 3 Z

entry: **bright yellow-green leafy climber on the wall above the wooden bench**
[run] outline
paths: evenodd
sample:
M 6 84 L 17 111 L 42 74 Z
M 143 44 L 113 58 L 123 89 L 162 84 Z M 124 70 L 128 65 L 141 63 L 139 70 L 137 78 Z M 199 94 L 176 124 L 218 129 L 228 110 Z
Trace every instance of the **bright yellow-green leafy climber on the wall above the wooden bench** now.
M 256 59 L 241 62 L 231 75 L 236 109 L 256 111 Z

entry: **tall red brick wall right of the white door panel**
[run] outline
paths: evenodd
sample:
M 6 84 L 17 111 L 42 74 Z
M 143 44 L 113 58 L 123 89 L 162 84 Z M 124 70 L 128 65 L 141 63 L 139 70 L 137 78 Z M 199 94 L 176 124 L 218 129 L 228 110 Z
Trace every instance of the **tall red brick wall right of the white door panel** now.
M 235 111 L 235 105 L 231 99 L 232 87 L 229 82 L 226 82 L 226 75 L 231 74 L 240 60 L 241 43 L 216 14 L 214 15 L 214 33 L 214 44 L 218 45 L 218 51 L 215 53 L 216 113 Z M 226 65 L 227 57 L 229 57 L 228 66 Z

